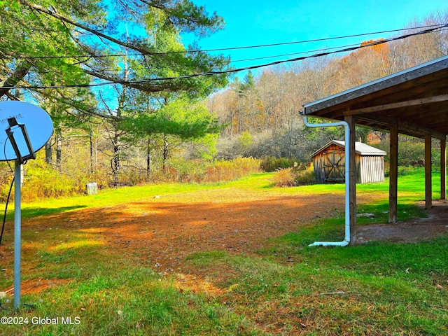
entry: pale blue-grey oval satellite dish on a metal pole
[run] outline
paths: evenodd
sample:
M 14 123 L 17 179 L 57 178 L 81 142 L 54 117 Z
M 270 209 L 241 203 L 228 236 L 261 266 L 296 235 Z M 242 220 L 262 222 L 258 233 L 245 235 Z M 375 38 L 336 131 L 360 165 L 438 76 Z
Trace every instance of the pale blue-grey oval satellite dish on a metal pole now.
M 25 125 L 25 127 L 23 126 Z M 23 130 L 27 132 L 29 144 L 23 136 Z M 6 101 L 0 102 L 0 161 L 18 159 L 8 130 L 13 131 L 14 139 L 24 158 L 34 158 L 34 153 L 41 149 L 53 134 L 53 123 L 48 115 L 40 107 L 25 102 Z

